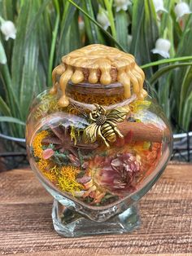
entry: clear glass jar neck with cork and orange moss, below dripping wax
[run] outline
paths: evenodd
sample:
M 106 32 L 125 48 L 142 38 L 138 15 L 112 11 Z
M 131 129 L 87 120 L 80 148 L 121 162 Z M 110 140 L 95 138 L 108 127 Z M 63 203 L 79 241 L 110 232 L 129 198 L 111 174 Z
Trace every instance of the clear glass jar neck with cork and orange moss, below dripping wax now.
M 68 82 L 66 95 L 84 104 L 111 105 L 122 102 L 124 97 L 124 86 L 119 82 L 111 83 L 107 86 L 101 84 L 90 84 L 82 82 L 73 84 Z

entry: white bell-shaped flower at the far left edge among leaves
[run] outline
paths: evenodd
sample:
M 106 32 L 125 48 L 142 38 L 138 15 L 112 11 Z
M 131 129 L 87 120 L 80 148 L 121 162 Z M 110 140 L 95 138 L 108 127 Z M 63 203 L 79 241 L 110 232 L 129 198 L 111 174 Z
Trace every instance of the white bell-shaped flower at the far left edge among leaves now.
M 1 31 L 5 36 L 5 39 L 8 40 L 9 38 L 15 39 L 16 38 L 16 29 L 15 24 L 11 20 L 1 20 Z

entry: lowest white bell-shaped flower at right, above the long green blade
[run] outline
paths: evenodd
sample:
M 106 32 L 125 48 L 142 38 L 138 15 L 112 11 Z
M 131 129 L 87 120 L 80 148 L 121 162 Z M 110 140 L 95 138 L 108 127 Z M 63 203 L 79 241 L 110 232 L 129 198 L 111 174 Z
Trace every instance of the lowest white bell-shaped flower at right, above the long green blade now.
M 164 58 L 169 58 L 169 50 L 171 48 L 171 42 L 168 39 L 159 38 L 155 42 L 155 49 L 151 50 L 152 53 L 161 55 Z

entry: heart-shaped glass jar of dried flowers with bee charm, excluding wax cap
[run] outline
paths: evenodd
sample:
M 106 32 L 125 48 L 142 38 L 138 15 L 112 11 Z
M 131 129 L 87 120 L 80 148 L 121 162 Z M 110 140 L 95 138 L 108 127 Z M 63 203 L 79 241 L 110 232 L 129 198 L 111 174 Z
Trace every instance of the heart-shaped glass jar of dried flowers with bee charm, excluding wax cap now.
M 52 218 L 63 236 L 130 232 L 137 201 L 163 172 L 172 132 L 161 108 L 121 82 L 65 86 L 68 104 L 49 90 L 38 95 L 27 121 L 32 169 L 55 197 Z M 61 89 L 63 89 L 61 87 Z

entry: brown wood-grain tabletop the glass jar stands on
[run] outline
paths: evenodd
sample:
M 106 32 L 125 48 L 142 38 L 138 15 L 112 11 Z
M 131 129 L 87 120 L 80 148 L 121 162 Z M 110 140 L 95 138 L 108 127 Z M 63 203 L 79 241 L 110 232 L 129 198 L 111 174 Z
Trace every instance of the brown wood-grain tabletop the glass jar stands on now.
M 129 234 L 60 237 L 51 207 L 31 170 L 0 173 L 0 254 L 192 255 L 192 165 L 168 166 L 140 202 L 142 226 Z

